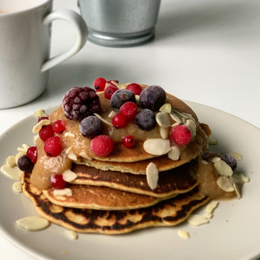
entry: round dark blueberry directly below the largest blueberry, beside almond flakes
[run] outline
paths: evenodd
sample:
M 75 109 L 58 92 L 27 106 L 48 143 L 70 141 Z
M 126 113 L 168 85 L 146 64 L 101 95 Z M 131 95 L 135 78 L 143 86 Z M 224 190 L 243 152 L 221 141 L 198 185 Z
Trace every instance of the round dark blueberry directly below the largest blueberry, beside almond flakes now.
M 134 123 L 142 130 L 151 130 L 156 126 L 155 114 L 150 109 L 142 109 L 136 114 Z

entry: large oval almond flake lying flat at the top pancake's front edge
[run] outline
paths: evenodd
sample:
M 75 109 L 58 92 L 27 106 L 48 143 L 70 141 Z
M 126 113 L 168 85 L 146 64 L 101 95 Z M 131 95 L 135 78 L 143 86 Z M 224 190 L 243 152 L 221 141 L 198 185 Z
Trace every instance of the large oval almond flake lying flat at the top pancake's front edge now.
M 151 138 L 144 142 L 144 149 L 153 155 L 163 155 L 171 150 L 170 140 L 162 138 Z

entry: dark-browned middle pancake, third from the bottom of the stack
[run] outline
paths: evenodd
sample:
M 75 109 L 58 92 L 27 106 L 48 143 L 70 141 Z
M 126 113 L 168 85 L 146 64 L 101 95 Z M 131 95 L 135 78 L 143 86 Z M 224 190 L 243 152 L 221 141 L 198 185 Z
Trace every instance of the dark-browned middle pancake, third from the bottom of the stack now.
M 72 183 L 107 186 L 113 189 L 162 198 L 188 192 L 197 186 L 199 181 L 195 177 L 195 170 L 195 167 L 187 163 L 172 170 L 160 172 L 158 186 L 151 190 L 146 175 L 134 175 L 110 170 L 102 171 L 94 167 L 74 164 L 72 171 L 78 177 Z

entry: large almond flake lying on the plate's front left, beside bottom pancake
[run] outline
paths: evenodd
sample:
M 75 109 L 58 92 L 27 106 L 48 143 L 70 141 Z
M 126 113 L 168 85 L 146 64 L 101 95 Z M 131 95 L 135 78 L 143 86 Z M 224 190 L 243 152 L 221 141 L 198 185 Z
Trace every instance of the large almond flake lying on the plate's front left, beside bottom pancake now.
M 45 218 L 32 216 L 16 220 L 16 224 L 27 230 L 37 231 L 47 228 L 50 222 Z

